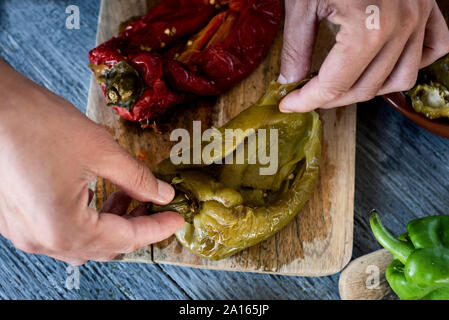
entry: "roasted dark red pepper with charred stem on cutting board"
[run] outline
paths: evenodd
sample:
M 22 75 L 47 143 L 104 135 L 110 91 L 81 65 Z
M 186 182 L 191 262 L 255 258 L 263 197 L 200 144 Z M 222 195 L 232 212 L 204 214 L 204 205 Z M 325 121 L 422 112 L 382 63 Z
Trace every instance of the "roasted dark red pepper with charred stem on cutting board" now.
M 268 53 L 280 0 L 163 0 L 89 53 L 108 104 L 155 119 L 198 95 L 218 95 Z

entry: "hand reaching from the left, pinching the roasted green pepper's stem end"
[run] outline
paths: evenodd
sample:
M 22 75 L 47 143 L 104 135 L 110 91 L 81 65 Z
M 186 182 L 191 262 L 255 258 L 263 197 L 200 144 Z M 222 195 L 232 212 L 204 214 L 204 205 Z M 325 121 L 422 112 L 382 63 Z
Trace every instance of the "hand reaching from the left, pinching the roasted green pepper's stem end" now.
M 174 212 L 122 217 L 131 199 L 169 203 L 157 180 L 100 126 L 0 60 L 0 233 L 20 250 L 72 264 L 111 260 L 163 240 L 184 219 Z M 114 194 L 101 213 L 87 184 L 108 179 Z

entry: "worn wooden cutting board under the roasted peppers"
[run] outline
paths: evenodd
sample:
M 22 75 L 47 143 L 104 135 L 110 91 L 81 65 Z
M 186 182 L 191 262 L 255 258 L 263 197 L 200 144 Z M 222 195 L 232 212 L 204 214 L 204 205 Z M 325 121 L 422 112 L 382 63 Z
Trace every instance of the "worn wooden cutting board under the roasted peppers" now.
M 155 2 L 102 1 L 97 44 L 116 35 L 121 22 L 145 14 Z M 332 44 L 333 34 L 327 25 L 323 25 L 315 50 L 315 70 Z M 268 84 L 277 79 L 281 47 L 282 32 L 279 32 L 268 57 L 256 71 L 216 101 L 179 108 L 171 118 L 169 129 L 191 130 L 193 120 L 202 121 L 203 130 L 211 125 L 220 126 L 249 107 L 264 93 Z M 87 115 L 105 126 L 120 145 L 150 168 L 168 157 L 172 146 L 169 132 L 157 134 L 120 120 L 113 109 L 106 106 L 94 79 Z M 323 111 L 320 116 L 323 121 L 321 176 L 311 200 L 281 232 L 221 261 L 197 257 L 174 237 L 118 259 L 286 275 L 319 276 L 339 272 L 349 262 L 352 252 L 356 108 L 353 105 Z M 92 187 L 95 188 L 97 208 L 116 190 L 114 185 L 103 179 L 97 179 Z

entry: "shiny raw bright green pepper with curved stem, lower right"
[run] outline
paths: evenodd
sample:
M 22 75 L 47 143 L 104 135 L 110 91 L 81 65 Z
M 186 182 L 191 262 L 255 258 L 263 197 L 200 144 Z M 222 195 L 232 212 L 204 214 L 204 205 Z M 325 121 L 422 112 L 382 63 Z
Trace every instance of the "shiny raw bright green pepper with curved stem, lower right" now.
M 449 300 L 449 216 L 431 216 L 408 223 L 407 233 L 395 238 L 370 217 L 379 243 L 393 255 L 386 278 L 403 300 Z

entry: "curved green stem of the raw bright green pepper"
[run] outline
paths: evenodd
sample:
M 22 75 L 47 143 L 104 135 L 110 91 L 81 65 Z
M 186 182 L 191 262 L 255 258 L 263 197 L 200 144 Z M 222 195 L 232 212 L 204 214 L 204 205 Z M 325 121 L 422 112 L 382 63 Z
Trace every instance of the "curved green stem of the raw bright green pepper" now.
M 385 249 L 390 251 L 396 259 L 405 264 L 415 248 L 407 242 L 396 239 L 382 224 L 379 214 L 376 211 L 372 211 L 369 222 L 377 241 L 379 241 Z

